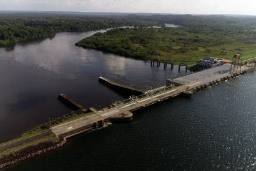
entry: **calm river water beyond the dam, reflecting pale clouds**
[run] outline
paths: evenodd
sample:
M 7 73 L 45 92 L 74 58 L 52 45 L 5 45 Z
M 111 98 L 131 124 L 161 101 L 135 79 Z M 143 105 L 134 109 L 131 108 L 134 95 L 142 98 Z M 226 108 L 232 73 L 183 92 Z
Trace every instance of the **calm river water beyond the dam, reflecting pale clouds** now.
M 57 100 L 59 93 L 66 93 L 86 108 L 126 98 L 99 83 L 99 75 L 152 88 L 179 74 L 177 68 L 171 71 L 163 66 L 150 67 L 147 61 L 74 45 L 96 32 L 106 30 L 61 33 L 53 39 L 19 44 L 9 50 L 0 48 L 0 142 L 17 137 L 49 117 L 69 112 Z

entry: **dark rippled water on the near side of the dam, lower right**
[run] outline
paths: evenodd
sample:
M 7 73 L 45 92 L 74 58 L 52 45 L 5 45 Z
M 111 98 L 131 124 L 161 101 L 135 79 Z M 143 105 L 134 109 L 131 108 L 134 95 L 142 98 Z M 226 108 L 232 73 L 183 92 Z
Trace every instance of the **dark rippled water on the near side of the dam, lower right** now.
M 247 73 L 136 111 L 134 122 L 7 170 L 255 170 L 255 81 L 256 72 Z

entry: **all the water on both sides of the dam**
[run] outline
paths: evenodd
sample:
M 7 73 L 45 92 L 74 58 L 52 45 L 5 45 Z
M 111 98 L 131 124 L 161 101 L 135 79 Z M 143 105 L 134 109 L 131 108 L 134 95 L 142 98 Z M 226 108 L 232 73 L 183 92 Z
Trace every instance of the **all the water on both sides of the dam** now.
M 142 88 L 179 75 L 177 68 L 74 46 L 94 33 L 0 49 L 0 141 L 68 113 L 59 93 L 97 108 L 126 98 L 99 83 L 99 75 Z M 252 72 L 192 99 L 150 106 L 136 111 L 134 122 L 82 134 L 7 170 L 254 170 L 255 82 Z

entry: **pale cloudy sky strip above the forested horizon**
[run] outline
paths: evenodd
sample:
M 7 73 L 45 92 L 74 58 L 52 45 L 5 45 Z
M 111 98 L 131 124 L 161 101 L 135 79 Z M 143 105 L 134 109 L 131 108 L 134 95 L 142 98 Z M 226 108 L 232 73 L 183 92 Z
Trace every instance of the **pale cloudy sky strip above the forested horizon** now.
M 256 15 L 255 0 L 0 0 L 0 10 Z

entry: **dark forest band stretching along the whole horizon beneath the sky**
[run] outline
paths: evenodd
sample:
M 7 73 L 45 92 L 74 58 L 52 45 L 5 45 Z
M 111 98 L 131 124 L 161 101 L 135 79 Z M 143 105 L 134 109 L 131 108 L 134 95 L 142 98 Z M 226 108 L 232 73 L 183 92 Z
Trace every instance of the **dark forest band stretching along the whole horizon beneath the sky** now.
M 164 24 L 181 25 L 185 32 L 215 37 L 250 37 L 255 42 L 256 17 L 137 15 L 80 12 L 2 12 L 0 46 L 22 40 L 52 37 L 57 32 L 83 32 L 110 27 L 146 27 Z M 222 42 L 219 40 L 220 43 Z

